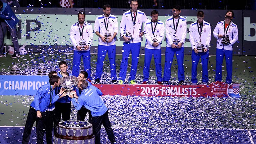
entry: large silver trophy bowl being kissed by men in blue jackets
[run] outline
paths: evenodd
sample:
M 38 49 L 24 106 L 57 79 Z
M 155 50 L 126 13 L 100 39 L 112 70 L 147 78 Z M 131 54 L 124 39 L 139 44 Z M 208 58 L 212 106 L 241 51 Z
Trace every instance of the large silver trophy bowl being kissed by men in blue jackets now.
M 78 78 L 76 76 L 68 76 L 60 78 L 60 85 L 66 90 L 67 95 L 77 86 Z

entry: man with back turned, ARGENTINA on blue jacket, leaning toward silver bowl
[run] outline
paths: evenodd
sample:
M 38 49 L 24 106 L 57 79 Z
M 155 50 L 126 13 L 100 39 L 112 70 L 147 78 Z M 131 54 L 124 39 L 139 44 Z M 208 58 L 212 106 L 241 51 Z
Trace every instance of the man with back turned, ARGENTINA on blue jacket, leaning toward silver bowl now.
M 101 124 L 103 124 L 105 127 L 111 144 L 115 143 L 113 129 L 111 128 L 111 124 L 108 118 L 107 107 L 99 97 L 102 95 L 102 92 L 93 85 L 88 86 L 88 83 L 85 80 L 79 81 L 77 83 L 77 87 L 82 90 L 81 95 L 77 97 L 77 93 L 75 91 L 71 91 L 69 97 L 72 97 L 72 103 L 77 110 L 80 110 L 80 108 L 84 105 L 91 111 L 91 124 L 93 126 L 93 135 L 95 135 L 95 144 L 100 144 L 99 132 Z

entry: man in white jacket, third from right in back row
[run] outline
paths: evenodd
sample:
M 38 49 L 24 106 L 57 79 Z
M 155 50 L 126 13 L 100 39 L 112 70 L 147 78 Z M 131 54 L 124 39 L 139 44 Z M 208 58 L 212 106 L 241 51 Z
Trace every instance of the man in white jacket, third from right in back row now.
M 173 15 L 165 21 L 166 50 L 165 50 L 165 68 L 164 84 L 169 84 L 171 78 L 171 66 L 174 54 L 178 62 L 178 80 L 179 85 L 185 84 L 184 75 L 184 42 L 187 35 L 187 20 L 180 16 L 180 6 L 173 7 Z

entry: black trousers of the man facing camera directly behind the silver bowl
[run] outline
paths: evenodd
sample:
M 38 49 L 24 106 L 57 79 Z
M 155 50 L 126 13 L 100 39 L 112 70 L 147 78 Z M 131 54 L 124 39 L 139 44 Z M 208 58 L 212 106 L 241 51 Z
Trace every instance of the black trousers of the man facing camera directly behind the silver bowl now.
M 61 115 L 62 121 L 66 121 L 70 119 L 71 113 L 71 102 L 69 103 L 59 103 L 55 102 L 55 119 L 54 119 L 54 126 L 53 126 L 53 133 L 57 133 L 57 125 L 61 122 Z

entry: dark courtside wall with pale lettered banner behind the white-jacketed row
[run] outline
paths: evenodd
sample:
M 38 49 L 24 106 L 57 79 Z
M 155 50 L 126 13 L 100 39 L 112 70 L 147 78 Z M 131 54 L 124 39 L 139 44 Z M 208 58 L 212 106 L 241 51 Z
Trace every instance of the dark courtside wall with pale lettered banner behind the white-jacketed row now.
M 77 13 L 80 10 L 85 11 L 85 20 L 94 25 L 97 16 L 101 15 L 102 8 L 12 8 L 19 21 L 17 28 L 18 41 L 20 45 L 25 44 L 30 52 L 38 53 L 72 53 L 72 43 L 69 39 L 69 30 L 72 24 L 77 22 Z M 123 12 L 129 9 L 112 8 L 112 14 L 116 15 L 120 24 Z M 150 18 L 152 9 L 140 9 Z M 212 31 L 217 22 L 224 20 L 226 10 L 203 10 L 205 21 L 211 24 Z M 256 55 L 253 46 L 256 45 L 256 11 L 234 10 L 235 17 L 233 22 L 238 26 L 238 42 L 234 44 L 234 55 Z M 181 10 L 182 16 L 187 18 L 187 38 L 184 44 L 185 54 L 191 54 L 191 44 L 189 42 L 189 25 L 196 21 L 197 10 Z M 172 11 L 159 9 L 159 20 L 165 20 L 172 16 Z M 6 45 L 12 45 L 10 34 L 5 37 Z M 141 43 L 140 53 L 144 53 L 145 38 Z M 120 33 L 116 37 L 117 54 L 121 54 L 123 39 Z M 210 54 L 216 53 L 216 38 L 213 37 L 210 43 Z M 95 34 L 91 47 L 91 53 L 97 53 L 98 37 Z M 162 43 L 162 54 L 165 54 L 166 39 Z

